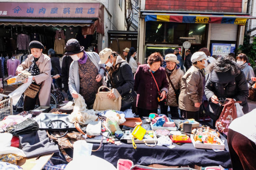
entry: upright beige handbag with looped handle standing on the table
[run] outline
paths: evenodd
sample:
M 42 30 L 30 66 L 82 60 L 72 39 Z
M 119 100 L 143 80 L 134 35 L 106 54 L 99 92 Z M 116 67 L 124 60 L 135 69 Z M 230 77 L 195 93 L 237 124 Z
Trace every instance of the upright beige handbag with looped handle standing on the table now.
M 94 104 L 93 104 L 93 110 L 119 110 L 120 111 L 122 97 L 118 97 L 115 100 L 109 99 L 108 98 L 109 92 L 100 92 L 100 89 L 102 88 L 107 88 L 109 91 L 111 91 L 111 89 L 106 86 L 99 87 Z

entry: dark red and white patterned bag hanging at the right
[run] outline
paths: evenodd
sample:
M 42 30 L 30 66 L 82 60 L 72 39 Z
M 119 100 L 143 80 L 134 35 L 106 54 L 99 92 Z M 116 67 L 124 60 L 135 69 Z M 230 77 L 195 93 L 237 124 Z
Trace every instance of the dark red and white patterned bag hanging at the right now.
M 225 105 L 220 117 L 216 120 L 215 127 L 220 133 L 228 134 L 228 126 L 230 123 L 237 118 L 236 105 L 235 103 L 241 103 L 241 101 L 233 102 L 230 105 Z

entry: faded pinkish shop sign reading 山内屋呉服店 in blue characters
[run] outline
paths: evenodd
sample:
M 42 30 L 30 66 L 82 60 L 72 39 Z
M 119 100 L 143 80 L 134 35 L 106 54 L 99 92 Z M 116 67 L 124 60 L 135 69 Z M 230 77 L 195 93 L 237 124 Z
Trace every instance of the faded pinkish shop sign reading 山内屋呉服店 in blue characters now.
M 0 2 L 0 17 L 97 18 L 100 3 Z

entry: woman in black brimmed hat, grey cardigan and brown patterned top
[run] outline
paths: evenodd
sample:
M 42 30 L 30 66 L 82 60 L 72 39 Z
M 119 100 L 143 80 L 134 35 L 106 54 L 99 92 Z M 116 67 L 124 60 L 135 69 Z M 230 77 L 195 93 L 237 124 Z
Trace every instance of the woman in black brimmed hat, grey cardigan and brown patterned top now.
M 85 52 L 76 39 L 70 39 L 65 46 L 65 55 L 74 60 L 69 68 L 69 91 L 73 98 L 79 93 L 84 97 L 89 109 L 92 109 L 101 79 L 105 72 L 104 64 L 99 64 L 100 57 L 96 52 Z

